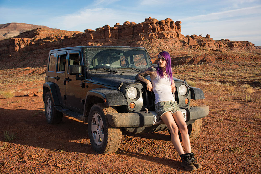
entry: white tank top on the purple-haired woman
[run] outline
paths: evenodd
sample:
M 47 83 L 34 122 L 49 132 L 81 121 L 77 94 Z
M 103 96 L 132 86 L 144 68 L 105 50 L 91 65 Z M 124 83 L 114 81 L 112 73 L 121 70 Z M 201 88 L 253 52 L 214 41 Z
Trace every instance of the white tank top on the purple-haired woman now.
M 171 93 L 171 79 L 168 77 L 161 78 L 158 74 L 155 79 L 151 80 L 153 92 L 155 94 L 155 104 L 160 101 L 175 101 Z

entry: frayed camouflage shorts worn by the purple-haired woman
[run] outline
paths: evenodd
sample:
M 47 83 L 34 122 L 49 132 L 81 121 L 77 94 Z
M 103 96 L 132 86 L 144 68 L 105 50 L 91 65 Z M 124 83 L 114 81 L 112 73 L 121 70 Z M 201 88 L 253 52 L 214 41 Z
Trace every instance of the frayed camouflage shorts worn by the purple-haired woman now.
M 161 118 L 165 112 L 175 113 L 180 111 L 176 101 L 160 101 L 155 104 L 155 112 Z

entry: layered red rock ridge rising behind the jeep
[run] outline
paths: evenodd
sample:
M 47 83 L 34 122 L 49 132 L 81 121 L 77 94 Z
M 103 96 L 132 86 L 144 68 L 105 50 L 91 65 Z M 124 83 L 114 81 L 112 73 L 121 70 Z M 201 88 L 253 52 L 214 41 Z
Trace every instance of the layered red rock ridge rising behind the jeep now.
M 148 42 L 150 41 L 150 44 Z M 210 35 L 181 34 L 181 21 L 172 19 L 157 20 L 151 17 L 144 22 L 126 21 L 123 25 L 116 23 L 113 27 L 105 25 L 96 30 L 86 29 L 85 32 L 66 31 L 60 29 L 36 28 L 26 31 L 13 38 L 0 41 L 0 60 L 9 59 L 3 68 L 42 66 L 46 64 L 49 50 L 70 46 L 121 45 L 141 46 L 149 53 L 178 47 L 206 47 L 208 49 L 255 49 L 254 44 L 244 41 L 213 40 Z M 160 43 L 160 44 L 159 44 Z M 154 47 L 153 47 L 154 46 Z M 155 50 L 155 51 L 153 51 Z

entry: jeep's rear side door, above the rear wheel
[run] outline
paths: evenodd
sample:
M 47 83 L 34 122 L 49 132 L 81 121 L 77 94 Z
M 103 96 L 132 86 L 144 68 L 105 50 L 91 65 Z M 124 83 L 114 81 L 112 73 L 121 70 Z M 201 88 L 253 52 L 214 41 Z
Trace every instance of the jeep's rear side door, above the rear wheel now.
M 55 76 L 55 84 L 56 84 L 56 91 L 58 94 L 58 98 L 60 104 L 63 105 L 66 102 L 65 97 L 65 85 L 63 83 L 65 79 L 65 72 L 66 68 L 66 57 L 67 57 L 67 50 L 66 51 L 58 51 L 57 53 L 57 66 L 56 66 L 56 76 Z

